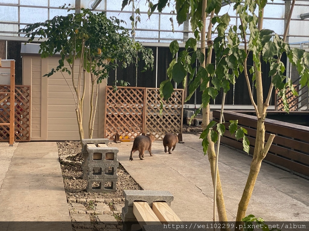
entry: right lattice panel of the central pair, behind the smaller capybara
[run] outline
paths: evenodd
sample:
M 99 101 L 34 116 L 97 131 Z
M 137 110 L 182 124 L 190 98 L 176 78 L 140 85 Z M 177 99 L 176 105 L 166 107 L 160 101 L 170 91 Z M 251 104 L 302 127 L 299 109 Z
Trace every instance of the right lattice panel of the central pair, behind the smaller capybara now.
M 146 88 L 145 133 L 155 135 L 156 140 L 172 132 L 182 133 L 183 90 L 177 89 L 168 100 L 163 100 L 163 112 L 160 115 L 159 89 Z

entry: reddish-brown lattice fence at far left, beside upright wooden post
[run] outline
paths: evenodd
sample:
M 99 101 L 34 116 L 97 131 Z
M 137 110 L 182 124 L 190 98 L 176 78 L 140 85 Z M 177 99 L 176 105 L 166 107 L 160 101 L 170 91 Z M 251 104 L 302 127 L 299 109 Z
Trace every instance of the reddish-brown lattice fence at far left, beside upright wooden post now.
M 1 85 L 0 92 L 0 123 L 10 121 L 10 85 Z M 15 85 L 15 141 L 30 141 L 31 87 Z M 10 128 L 0 126 L 0 141 L 8 141 Z

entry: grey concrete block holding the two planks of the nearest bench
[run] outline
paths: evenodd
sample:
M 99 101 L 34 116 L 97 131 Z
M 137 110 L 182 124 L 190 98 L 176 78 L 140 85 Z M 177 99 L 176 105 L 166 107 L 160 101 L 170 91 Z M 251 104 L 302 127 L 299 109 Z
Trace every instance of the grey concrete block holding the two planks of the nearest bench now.
M 174 200 L 174 196 L 168 191 L 153 190 L 123 190 L 125 207 L 133 207 L 133 201 L 146 201 L 150 207 L 154 201 L 165 201 L 168 206 Z

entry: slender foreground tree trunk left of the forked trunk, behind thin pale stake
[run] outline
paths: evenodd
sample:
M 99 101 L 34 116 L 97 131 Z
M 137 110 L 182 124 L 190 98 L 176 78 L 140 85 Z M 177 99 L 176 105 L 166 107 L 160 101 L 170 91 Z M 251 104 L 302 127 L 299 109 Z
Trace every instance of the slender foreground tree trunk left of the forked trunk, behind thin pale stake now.
M 206 12 L 205 12 L 206 5 L 207 5 L 207 0 L 204 0 L 203 5 L 202 5 L 202 21 L 204 23 L 204 26 L 201 30 L 201 51 L 205 55 L 205 57 L 206 57 Z M 214 12 L 211 13 L 211 18 L 213 16 L 214 16 Z M 207 33 L 207 45 L 209 44 L 208 49 L 210 49 L 210 52 L 207 56 L 206 63 L 205 63 L 205 60 L 204 60 L 203 63 L 201 63 L 201 67 L 204 67 L 204 68 L 205 68 L 205 65 L 211 63 L 211 55 L 212 55 L 211 28 L 212 28 L 212 24 L 211 24 L 211 20 L 210 20 L 210 24 L 209 24 L 209 27 L 208 27 L 208 33 Z M 209 87 L 209 83 L 208 83 L 208 87 Z M 210 116 L 209 116 L 210 115 L 210 106 L 209 106 L 209 104 L 206 105 L 206 106 L 204 105 L 204 107 L 202 109 L 202 114 L 203 114 L 202 128 L 204 130 L 204 129 L 206 129 L 207 125 L 209 124 L 209 119 L 210 119 Z M 216 153 L 215 153 L 215 149 L 214 149 L 214 143 L 211 141 L 210 135 L 207 137 L 207 139 L 208 139 L 208 142 L 209 142 L 207 154 L 208 154 L 208 160 L 210 162 L 211 178 L 212 178 L 213 185 L 214 185 Z M 219 221 L 227 221 L 226 209 L 225 209 L 225 205 L 224 205 L 224 199 L 223 199 L 219 170 L 217 172 L 217 193 L 216 193 L 216 195 L 217 195 L 216 202 L 217 202 L 217 210 L 218 210 Z

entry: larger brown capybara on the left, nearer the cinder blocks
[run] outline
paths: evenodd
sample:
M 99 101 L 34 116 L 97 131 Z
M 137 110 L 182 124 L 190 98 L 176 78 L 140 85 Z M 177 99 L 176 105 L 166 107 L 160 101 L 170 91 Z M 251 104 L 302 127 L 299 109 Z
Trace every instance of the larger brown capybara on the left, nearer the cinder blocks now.
M 150 156 L 152 156 L 151 144 L 152 142 L 154 142 L 154 140 L 155 140 L 155 136 L 152 134 L 151 135 L 147 134 L 147 136 L 142 135 L 142 136 L 136 137 L 133 142 L 130 160 L 133 160 L 132 155 L 135 151 L 139 151 L 139 158 L 141 160 L 144 160 L 143 157 L 144 157 L 145 150 L 148 150 Z

